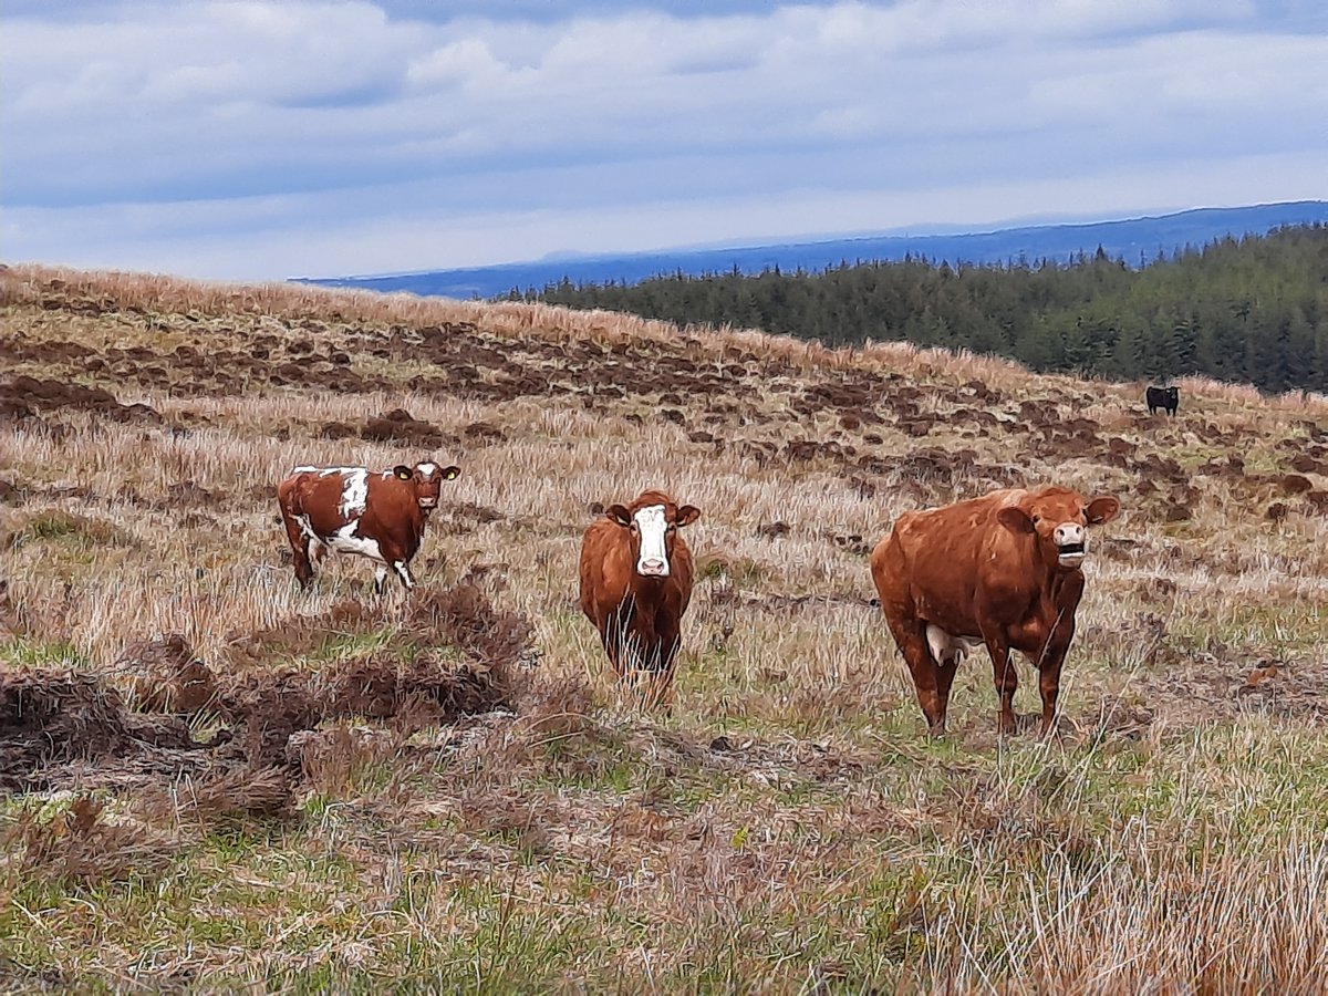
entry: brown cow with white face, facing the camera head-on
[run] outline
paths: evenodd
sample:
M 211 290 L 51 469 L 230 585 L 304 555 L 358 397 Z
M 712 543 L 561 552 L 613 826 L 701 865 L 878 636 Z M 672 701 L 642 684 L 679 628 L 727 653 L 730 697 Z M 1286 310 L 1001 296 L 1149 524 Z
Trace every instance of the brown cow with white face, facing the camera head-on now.
M 700 515 L 664 491 L 641 491 L 629 506 L 614 505 L 595 519 L 582 540 L 582 610 L 618 676 L 655 675 L 660 700 L 673 683 L 680 624 L 692 599 L 692 551 L 677 530 Z

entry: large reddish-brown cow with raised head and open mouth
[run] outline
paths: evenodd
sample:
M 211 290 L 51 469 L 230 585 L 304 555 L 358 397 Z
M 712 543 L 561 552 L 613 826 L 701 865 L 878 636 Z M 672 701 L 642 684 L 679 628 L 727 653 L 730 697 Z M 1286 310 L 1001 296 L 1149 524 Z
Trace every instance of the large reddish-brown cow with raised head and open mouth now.
M 1001 732 L 1015 729 L 1012 649 L 1037 668 L 1042 733 L 1052 729 L 1084 595 L 1088 527 L 1110 522 L 1120 509 L 1116 498 L 1086 501 L 1045 487 L 992 491 L 899 517 L 871 554 L 871 576 L 934 733 L 946 729 L 955 669 L 984 644 Z

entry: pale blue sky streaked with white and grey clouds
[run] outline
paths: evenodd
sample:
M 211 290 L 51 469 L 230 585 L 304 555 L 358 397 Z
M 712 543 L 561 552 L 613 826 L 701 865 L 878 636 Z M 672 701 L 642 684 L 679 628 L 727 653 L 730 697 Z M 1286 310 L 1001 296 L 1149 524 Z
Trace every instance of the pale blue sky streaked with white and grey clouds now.
M 5 0 L 0 259 L 223 280 L 1328 198 L 1323 0 Z

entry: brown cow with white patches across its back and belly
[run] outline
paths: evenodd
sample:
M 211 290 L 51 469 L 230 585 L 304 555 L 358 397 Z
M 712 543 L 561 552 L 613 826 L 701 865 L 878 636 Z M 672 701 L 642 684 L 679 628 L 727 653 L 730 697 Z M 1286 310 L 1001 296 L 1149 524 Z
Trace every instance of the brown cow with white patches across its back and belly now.
M 388 571 L 410 590 L 410 559 L 420 550 L 442 482 L 459 474 L 426 459 L 414 467 L 296 467 L 276 489 L 286 535 L 295 551 L 295 576 L 307 588 L 328 552 L 359 554 L 376 563 L 373 590 Z

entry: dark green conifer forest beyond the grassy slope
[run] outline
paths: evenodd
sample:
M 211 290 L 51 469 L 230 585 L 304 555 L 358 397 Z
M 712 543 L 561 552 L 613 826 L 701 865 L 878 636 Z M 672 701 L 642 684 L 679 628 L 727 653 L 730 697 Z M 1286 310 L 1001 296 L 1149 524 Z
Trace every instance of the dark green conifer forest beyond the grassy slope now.
M 959 264 L 910 256 L 825 271 L 681 272 L 636 284 L 563 279 L 510 300 L 760 328 L 830 347 L 907 340 L 1012 357 L 1035 371 L 1165 381 L 1202 374 L 1267 392 L 1328 390 L 1328 227 L 1224 238 L 1130 267 Z

